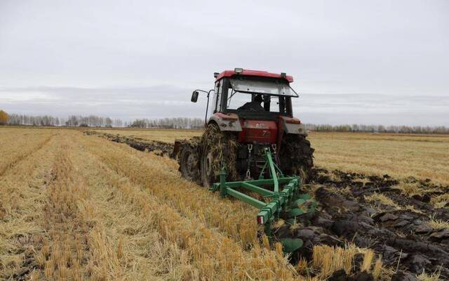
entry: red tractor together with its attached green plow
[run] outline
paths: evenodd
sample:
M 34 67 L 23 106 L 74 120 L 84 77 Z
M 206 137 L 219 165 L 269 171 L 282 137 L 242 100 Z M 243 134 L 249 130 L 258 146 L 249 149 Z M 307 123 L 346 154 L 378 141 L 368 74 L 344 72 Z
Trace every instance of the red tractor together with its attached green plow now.
M 203 135 L 176 140 L 173 156 L 184 178 L 259 208 L 257 223 L 271 237 L 274 219 L 296 219 L 313 209 L 300 206 L 310 199 L 299 187 L 313 166 L 314 149 L 304 124 L 293 117 L 293 77 L 242 68 L 214 77 L 214 89 L 195 90 L 191 98 L 196 103 L 200 93 L 207 95 Z

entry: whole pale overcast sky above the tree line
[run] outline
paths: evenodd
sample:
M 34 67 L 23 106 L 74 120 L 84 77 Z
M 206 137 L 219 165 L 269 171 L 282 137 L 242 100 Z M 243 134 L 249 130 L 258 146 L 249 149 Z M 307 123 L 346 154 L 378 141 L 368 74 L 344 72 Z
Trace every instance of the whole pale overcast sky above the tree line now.
M 293 75 L 306 123 L 449 126 L 449 1 L 0 0 L 0 109 L 202 117 L 194 89 Z

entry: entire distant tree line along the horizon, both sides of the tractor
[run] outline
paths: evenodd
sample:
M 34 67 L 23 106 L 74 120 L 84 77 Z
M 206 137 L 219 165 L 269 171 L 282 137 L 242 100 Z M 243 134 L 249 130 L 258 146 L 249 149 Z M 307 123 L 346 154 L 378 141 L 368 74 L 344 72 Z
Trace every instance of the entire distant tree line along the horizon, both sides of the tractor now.
M 69 117 L 53 117 L 50 115 L 8 115 L 0 110 L 0 125 L 27 126 L 70 126 L 70 127 L 134 127 L 134 128 L 162 128 L 162 129 L 201 129 L 204 119 L 173 117 L 161 119 L 135 119 L 124 122 L 122 119 L 111 119 L 96 115 L 70 115 Z M 371 132 L 371 133 L 438 133 L 449 134 L 445 126 L 383 126 L 383 125 L 329 125 L 306 124 L 311 131 L 340 131 L 340 132 Z

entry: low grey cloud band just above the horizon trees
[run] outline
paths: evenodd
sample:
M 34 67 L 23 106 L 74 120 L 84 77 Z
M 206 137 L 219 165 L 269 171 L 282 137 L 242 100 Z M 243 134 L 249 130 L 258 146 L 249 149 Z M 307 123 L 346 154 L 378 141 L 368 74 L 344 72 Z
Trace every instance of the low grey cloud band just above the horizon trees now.
M 135 88 L 36 87 L 0 89 L 11 112 L 42 115 L 98 114 L 114 118 L 203 117 L 206 96 L 191 103 L 192 89 L 161 85 Z M 295 115 L 307 123 L 449 125 L 449 96 L 378 93 L 301 93 Z

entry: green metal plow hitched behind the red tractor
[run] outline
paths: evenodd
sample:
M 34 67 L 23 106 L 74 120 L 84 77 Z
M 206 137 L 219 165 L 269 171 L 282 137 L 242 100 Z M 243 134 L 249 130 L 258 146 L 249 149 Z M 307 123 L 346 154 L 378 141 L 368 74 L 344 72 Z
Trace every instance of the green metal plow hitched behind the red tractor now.
M 229 195 L 259 209 L 257 223 L 264 226 L 264 233 L 272 242 L 272 223 L 274 220 L 283 216 L 283 218 L 287 218 L 287 223 L 293 225 L 296 223 L 297 216 L 314 212 L 316 202 L 311 200 L 309 194 L 300 193 L 302 181 L 299 176 L 283 175 L 279 166 L 274 163 L 269 148 L 265 148 L 264 155 L 265 164 L 260 172 L 259 179 L 227 182 L 226 169 L 223 167 L 220 171 L 220 183 L 214 183 L 210 190 L 220 190 L 221 197 Z M 266 169 L 269 170 L 269 178 L 264 178 Z M 280 186 L 282 186 L 281 190 Z M 262 202 L 237 189 L 253 191 L 270 200 L 269 202 Z M 303 241 L 299 238 L 284 238 L 280 241 L 283 245 L 283 251 L 288 253 L 296 251 L 303 244 Z

